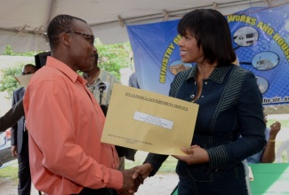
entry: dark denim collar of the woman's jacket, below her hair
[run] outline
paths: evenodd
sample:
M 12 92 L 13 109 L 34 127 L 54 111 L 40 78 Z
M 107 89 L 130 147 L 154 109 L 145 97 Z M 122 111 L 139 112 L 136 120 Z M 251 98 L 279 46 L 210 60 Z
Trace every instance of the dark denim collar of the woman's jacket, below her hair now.
M 220 66 L 213 69 L 212 74 L 210 74 L 209 79 L 211 79 L 213 82 L 221 83 L 224 81 L 225 75 L 227 74 L 230 66 Z M 189 75 L 187 77 L 187 80 L 190 78 L 197 77 L 197 66 L 193 66 L 189 72 Z

